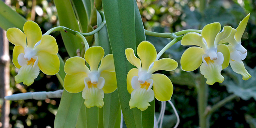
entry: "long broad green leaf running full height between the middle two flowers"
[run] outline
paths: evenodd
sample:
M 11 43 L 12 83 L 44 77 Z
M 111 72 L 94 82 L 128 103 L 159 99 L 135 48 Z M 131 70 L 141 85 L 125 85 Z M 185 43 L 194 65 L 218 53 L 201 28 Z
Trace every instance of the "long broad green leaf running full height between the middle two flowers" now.
M 133 67 L 125 57 L 124 50 L 135 50 L 135 15 L 133 0 L 102 0 L 108 37 L 116 69 L 117 90 L 127 128 L 141 128 L 141 111 L 130 109 L 131 95 L 127 91 L 126 76 Z

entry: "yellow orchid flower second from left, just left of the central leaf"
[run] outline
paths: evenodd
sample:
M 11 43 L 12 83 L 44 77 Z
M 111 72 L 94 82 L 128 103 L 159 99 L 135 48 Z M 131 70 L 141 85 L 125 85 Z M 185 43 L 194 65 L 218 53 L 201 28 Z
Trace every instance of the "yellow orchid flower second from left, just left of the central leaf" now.
M 87 108 L 103 107 L 104 93 L 114 92 L 117 88 L 113 54 L 104 56 L 100 46 L 90 47 L 82 57 L 66 60 L 64 88 L 70 93 L 82 92 Z M 90 69 L 85 66 L 85 61 Z M 100 63 L 101 61 L 101 63 Z M 100 63 L 100 67 L 98 65 Z

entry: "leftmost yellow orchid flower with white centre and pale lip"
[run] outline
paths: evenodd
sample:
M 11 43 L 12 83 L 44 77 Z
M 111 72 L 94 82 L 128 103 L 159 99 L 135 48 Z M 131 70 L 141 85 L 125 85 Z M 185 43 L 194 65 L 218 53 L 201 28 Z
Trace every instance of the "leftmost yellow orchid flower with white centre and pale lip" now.
M 7 39 L 15 45 L 12 62 L 16 68 L 20 68 L 15 81 L 31 85 L 39 75 L 39 69 L 46 75 L 57 74 L 60 60 L 55 38 L 42 36 L 40 27 L 34 21 L 27 21 L 23 31 L 25 34 L 18 28 L 9 28 L 6 32 Z

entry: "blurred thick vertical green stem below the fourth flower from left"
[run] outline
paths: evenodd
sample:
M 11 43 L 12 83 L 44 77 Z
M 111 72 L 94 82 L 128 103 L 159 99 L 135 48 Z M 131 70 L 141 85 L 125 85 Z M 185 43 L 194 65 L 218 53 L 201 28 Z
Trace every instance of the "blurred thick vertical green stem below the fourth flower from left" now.
M 207 99 L 208 99 L 208 85 L 205 84 L 205 78 L 203 75 L 200 75 L 197 93 L 198 93 L 197 103 L 198 103 L 199 127 L 208 128 L 209 118 L 205 116 L 205 109 L 207 106 Z

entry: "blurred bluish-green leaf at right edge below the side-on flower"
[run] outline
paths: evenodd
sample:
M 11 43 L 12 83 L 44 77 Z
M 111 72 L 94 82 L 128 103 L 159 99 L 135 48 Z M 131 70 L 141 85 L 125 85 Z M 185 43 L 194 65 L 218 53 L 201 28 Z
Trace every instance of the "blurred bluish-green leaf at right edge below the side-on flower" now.
M 225 80 L 222 84 L 227 86 L 229 93 L 234 93 L 235 95 L 241 97 L 243 100 L 249 100 L 250 98 L 254 98 L 256 100 L 256 68 L 252 69 L 247 66 L 245 66 L 245 68 L 249 74 L 252 75 L 250 79 L 246 81 L 242 80 L 242 76 L 235 73 L 229 66 L 228 68 L 224 69 L 227 75 L 223 75 Z

